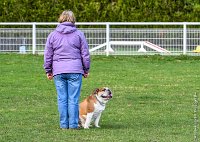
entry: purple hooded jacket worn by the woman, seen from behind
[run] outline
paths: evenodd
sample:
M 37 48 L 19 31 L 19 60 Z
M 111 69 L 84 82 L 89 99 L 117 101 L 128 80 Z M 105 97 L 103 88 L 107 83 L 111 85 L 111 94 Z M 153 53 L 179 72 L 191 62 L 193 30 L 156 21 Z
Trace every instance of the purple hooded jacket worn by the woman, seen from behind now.
M 89 72 L 88 44 L 84 34 L 73 23 L 60 23 L 49 34 L 44 51 L 44 69 L 53 75 Z

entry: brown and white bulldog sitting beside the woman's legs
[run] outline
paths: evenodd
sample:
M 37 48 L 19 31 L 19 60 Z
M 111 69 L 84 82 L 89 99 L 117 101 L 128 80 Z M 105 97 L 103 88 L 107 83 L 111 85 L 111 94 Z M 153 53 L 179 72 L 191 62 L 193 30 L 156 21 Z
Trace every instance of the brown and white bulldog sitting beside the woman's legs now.
M 95 89 L 79 105 L 79 125 L 89 129 L 91 122 L 95 127 L 99 126 L 101 113 L 106 107 L 106 103 L 112 98 L 112 92 L 108 87 Z

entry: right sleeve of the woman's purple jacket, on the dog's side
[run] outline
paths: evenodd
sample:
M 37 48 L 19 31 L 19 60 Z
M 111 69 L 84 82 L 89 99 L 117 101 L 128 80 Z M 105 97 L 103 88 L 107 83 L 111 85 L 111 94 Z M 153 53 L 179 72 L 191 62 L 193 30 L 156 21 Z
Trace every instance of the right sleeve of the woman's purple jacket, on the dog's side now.
M 90 53 L 85 35 L 81 35 L 81 58 L 83 63 L 84 73 L 89 73 L 90 70 Z

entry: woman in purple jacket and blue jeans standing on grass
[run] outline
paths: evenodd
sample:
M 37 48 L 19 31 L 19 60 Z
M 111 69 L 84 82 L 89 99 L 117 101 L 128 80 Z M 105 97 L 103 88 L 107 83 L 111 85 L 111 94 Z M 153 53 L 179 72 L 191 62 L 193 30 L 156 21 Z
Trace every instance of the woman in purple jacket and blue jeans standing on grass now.
M 78 129 L 82 75 L 87 78 L 90 55 L 84 34 L 75 27 L 72 11 L 63 11 L 56 29 L 49 34 L 44 69 L 54 79 L 61 129 Z

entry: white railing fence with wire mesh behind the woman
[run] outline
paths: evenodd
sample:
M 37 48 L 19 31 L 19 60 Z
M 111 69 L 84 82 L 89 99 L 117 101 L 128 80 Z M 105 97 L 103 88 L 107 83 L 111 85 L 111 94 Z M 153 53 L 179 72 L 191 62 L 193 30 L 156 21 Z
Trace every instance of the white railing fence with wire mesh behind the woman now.
M 43 53 L 58 23 L 0 23 L 0 53 Z M 198 22 L 76 23 L 92 55 L 200 55 Z M 200 52 L 200 50 L 199 50 Z

